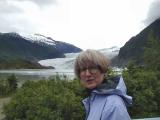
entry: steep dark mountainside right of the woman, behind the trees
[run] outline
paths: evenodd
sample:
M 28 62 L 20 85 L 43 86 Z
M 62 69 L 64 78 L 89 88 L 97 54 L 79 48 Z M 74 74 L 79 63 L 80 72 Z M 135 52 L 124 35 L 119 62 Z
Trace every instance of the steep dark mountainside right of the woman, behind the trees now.
M 160 38 L 160 19 L 151 23 L 139 34 L 132 37 L 126 44 L 120 48 L 118 56 L 112 59 L 112 65 L 123 67 L 129 61 L 136 61 L 138 64 L 143 63 L 144 48 L 147 47 L 148 35 L 153 32 Z

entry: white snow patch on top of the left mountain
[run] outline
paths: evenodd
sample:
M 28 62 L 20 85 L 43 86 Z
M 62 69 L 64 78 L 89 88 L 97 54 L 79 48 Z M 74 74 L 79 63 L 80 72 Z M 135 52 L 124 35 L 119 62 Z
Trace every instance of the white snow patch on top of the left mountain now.
M 40 34 L 20 34 L 22 38 L 36 43 L 45 43 L 47 45 L 56 45 L 55 40 Z

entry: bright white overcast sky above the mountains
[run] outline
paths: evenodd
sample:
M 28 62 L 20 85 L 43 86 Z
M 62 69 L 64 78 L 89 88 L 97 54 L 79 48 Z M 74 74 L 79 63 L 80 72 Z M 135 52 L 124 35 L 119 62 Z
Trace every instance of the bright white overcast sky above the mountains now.
M 39 33 L 82 49 L 123 46 L 160 17 L 160 0 L 0 0 L 0 32 Z

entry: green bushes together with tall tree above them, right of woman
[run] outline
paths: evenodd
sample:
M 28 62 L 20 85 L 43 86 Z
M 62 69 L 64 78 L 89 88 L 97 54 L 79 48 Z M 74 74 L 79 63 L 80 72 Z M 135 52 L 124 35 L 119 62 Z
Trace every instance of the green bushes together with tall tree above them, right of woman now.
M 128 94 L 133 97 L 131 116 L 154 117 L 160 115 L 160 39 L 150 32 L 145 48 L 144 64 L 130 63 L 123 71 Z

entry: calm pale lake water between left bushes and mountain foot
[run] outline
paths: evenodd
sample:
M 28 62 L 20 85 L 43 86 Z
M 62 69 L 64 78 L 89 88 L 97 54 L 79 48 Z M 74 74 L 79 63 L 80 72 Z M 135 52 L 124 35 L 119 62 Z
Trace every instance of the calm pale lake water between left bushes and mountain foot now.
M 0 79 L 15 74 L 18 82 L 23 83 L 26 80 L 40 80 L 48 79 L 55 75 L 66 76 L 69 79 L 74 78 L 73 70 L 71 69 L 14 69 L 14 70 L 0 70 Z

